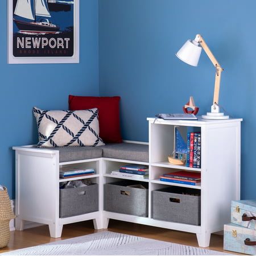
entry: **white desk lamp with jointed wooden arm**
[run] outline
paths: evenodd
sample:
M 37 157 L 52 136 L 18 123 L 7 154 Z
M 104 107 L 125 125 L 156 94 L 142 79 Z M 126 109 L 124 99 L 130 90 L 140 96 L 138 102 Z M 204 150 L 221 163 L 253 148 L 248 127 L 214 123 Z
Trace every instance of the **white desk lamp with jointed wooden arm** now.
M 197 34 L 194 40 L 187 40 L 183 47 L 176 53 L 176 56 L 184 61 L 185 63 L 197 67 L 200 54 L 204 49 L 205 53 L 209 57 L 210 61 L 212 61 L 216 73 L 215 73 L 215 85 L 214 85 L 214 96 L 213 96 L 213 105 L 211 108 L 211 112 L 207 112 L 206 115 L 202 115 L 204 119 L 228 119 L 228 115 L 224 115 L 224 113 L 220 113 L 220 106 L 218 106 L 218 96 L 220 93 L 220 80 L 221 80 L 221 72 L 224 70 L 221 68 L 221 65 L 213 56 L 209 47 L 205 43 L 204 39 L 201 35 Z

